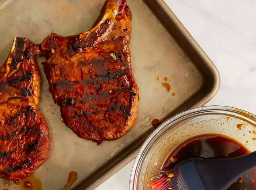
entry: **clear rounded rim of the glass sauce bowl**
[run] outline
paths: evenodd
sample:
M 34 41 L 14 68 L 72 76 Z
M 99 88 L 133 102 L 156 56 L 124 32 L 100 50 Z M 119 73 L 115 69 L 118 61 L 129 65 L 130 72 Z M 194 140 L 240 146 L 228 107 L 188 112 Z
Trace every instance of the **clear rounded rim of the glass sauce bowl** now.
M 177 115 L 171 117 L 170 119 L 167 119 L 164 121 L 151 135 L 146 139 L 146 141 L 143 143 L 142 147 L 140 148 L 133 166 L 132 171 L 130 175 L 130 181 L 129 181 L 129 190 L 137 190 L 137 179 L 139 175 L 139 170 L 141 163 L 143 162 L 143 158 L 150 150 L 152 144 L 155 142 L 155 140 L 158 139 L 159 136 L 162 135 L 162 132 L 165 131 L 167 128 L 172 128 L 175 126 L 176 121 L 182 121 L 184 119 L 187 119 L 189 117 L 197 116 L 197 114 L 209 114 L 209 113 L 222 113 L 222 114 L 228 114 L 224 112 L 229 112 L 230 114 L 235 115 L 241 115 L 242 117 L 245 117 L 246 119 L 249 119 L 253 125 L 256 126 L 256 116 L 252 113 L 246 112 L 241 109 L 229 107 L 229 106 L 203 106 L 199 108 L 193 108 L 186 110 L 184 112 L 178 113 Z

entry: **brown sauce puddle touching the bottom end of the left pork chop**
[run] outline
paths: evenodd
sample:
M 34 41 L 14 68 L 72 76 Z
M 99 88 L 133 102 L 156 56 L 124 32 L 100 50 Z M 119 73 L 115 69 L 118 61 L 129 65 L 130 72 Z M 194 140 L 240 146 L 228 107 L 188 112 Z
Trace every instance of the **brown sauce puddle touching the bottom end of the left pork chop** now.
M 43 185 L 40 179 L 35 178 L 35 174 L 30 175 L 26 179 L 17 182 L 21 190 L 43 190 Z

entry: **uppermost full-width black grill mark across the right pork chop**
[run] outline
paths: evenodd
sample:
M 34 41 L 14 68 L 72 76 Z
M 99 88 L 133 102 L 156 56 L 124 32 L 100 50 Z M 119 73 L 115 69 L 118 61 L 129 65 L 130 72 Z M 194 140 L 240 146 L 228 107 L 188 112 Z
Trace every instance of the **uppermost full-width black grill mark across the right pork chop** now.
M 83 81 L 60 81 L 60 82 L 55 83 L 53 85 L 53 87 L 56 89 L 58 87 L 61 88 L 63 86 L 67 86 L 68 84 L 79 84 L 80 82 L 87 83 L 87 82 L 91 82 L 91 81 L 104 80 L 107 78 L 113 79 L 113 78 L 116 78 L 116 77 L 124 75 L 124 74 L 125 74 L 125 72 L 120 72 L 120 73 L 115 72 L 115 73 L 109 73 L 109 74 L 103 75 L 102 77 L 90 78 L 90 79 L 83 80 Z

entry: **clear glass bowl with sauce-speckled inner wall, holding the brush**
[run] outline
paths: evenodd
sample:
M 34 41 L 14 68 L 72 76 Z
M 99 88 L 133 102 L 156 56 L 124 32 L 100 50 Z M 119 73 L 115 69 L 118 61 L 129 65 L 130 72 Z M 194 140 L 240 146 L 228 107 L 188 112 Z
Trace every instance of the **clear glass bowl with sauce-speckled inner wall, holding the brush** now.
M 243 125 L 237 127 L 237 124 Z M 179 113 L 162 123 L 140 148 L 133 163 L 129 190 L 150 190 L 147 179 L 158 174 L 157 170 L 175 147 L 193 136 L 226 135 L 256 151 L 255 131 L 256 116 L 236 108 L 205 106 Z

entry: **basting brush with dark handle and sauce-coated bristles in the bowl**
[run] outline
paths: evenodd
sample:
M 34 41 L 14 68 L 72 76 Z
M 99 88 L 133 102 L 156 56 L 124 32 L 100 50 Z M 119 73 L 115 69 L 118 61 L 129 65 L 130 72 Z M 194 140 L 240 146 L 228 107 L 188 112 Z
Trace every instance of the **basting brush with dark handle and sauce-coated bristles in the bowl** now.
M 191 160 L 165 171 L 168 176 L 162 175 L 151 186 L 153 190 L 227 190 L 253 168 L 256 168 L 256 151 L 228 159 Z

